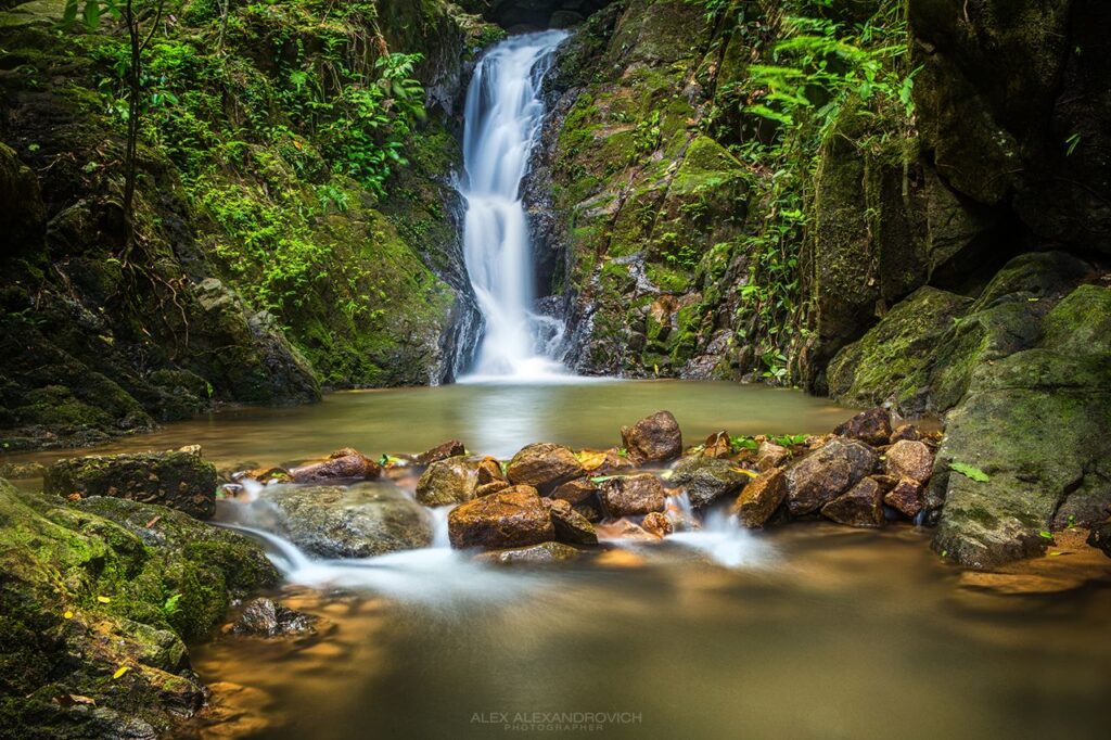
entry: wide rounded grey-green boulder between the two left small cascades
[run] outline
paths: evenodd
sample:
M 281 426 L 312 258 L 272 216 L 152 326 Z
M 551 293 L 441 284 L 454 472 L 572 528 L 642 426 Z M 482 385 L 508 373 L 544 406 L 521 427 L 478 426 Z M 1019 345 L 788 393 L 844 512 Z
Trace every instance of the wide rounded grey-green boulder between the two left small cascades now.
M 269 486 L 250 504 L 293 544 L 320 558 L 370 558 L 432 543 L 427 511 L 389 483 Z

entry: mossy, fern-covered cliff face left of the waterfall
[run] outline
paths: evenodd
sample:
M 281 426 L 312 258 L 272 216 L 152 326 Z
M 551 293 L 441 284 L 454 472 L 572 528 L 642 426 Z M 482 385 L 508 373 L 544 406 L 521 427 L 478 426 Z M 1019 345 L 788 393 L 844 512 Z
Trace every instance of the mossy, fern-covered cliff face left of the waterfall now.
M 147 52 L 129 250 L 120 29 L 42 8 L 0 23 L 8 449 L 452 377 L 457 99 L 499 29 L 439 1 L 187 3 Z

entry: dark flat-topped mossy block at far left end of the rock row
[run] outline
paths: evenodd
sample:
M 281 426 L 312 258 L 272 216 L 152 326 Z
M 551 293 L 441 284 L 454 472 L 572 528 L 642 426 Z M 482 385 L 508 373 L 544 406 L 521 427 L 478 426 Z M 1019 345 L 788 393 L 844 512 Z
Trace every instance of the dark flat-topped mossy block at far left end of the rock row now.
M 59 460 L 43 490 L 54 496 L 113 496 L 157 503 L 198 519 L 216 512 L 216 467 L 191 452 L 137 452 Z

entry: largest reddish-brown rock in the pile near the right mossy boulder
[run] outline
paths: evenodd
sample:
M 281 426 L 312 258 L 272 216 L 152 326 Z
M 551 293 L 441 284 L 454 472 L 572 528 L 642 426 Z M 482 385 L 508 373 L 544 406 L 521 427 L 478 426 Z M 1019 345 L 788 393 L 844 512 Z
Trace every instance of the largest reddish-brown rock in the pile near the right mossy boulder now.
M 787 503 L 791 516 L 821 509 L 875 469 L 879 457 L 854 440 L 833 439 L 787 469 Z

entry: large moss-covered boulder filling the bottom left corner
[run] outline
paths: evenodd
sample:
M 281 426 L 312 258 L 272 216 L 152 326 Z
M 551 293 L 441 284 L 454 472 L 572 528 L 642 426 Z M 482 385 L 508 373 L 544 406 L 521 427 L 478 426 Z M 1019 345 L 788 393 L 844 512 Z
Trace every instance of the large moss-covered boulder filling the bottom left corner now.
M 181 512 L 3 481 L 0 568 L 0 721 L 20 738 L 170 732 L 206 696 L 186 641 L 278 581 L 250 540 Z

